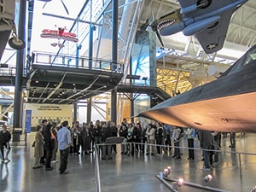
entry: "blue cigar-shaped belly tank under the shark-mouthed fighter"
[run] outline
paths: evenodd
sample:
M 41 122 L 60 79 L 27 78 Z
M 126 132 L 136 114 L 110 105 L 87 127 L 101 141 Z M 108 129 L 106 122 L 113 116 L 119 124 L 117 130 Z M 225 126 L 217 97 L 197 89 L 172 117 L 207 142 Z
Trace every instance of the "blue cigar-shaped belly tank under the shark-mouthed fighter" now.
M 218 22 L 218 20 L 220 20 L 220 16 L 213 16 L 205 20 L 196 21 L 190 24 L 189 26 L 186 26 L 183 30 L 183 34 L 185 36 L 194 35 L 206 29 L 207 27 L 213 26 L 216 22 Z

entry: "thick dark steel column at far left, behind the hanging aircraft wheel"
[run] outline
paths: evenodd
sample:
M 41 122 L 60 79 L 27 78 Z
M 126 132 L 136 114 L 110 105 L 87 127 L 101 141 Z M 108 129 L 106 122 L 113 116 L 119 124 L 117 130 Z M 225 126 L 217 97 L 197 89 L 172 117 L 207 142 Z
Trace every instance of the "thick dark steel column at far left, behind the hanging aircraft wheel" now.
M 20 15 L 19 15 L 19 30 L 18 37 L 26 39 L 26 0 L 20 0 Z M 14 105 L 14 131 L 13 141 L 20 142 L 20 134 L 22 131 L 22 77 L 23 66 L 26 58 L 26 50 L 20 49 L 17 51 L 16 73 L 15 73 L 15 105 Z

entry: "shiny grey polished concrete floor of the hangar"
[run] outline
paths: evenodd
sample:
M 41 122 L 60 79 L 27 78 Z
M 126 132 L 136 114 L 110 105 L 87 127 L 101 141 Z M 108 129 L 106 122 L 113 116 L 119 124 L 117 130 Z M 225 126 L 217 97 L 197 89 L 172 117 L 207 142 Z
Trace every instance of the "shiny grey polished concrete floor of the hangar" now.
M 32 169 L 33 148 L 31 141 L 34 133 L 27 137 L 26 146 L 13 146 L 9 163 L 2 163 L 0 172 L 0 191 L 8 192 L 79 192 L 97 191 L 96 185 L 96 157 L 95 154 L 82 154 L 70 156 L 66 175 L 58 174 L 59 162 L 52 166 L 52 172 L 44 171 L 44 168 Z M 256 154 L 256 135 L 247 134 L 246 137 L 236 137 L 236 149 L 233 152 L 245 152 Z M 195 140 L 195 144 L 198 141 Z M 135 156 L 121 155 L 119 146 L 117 154 L 113 154 L 112 160 L 100 160 L 100 180 L 102 192 L 166 192 L 166 185 L 155 176 L 166 168 L 172 167 L 169 178 L 183 177 L 185 182 L 207 185 L 225 191 L 247 192 L 256 185 L 256 156 L 253 154 L 230 154 L 229 137 L 222 139 L 223 151 L 220 162 L 211 171 L 202 171 L 201 151 L 196 152 L 195 161 L 187 160 L 188 150 L 182 149 L 182 159 L 172 159 L 172 154 L 164 154 L 162 157 L 136 154 Z M 183 140 L 183 147 L 187 142 Z M 240 163 L 241 159 L 241 174 Z M 203 178 L 212 174 L 212 182 L 205 183 Z M 181 186 L 178 191 L 206 191 Z

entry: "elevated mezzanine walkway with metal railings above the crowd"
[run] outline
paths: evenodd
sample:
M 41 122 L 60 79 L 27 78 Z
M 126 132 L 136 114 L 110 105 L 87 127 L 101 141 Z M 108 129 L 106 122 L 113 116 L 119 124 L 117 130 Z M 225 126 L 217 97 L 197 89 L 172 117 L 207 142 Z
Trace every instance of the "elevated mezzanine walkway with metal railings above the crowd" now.
M 108 60 L 35 52 L 28 58 L 23 87 L 27 102 L 70 104 L 117 88 L 123 93 L 144 93 L 156 103 L 170 98 L 147 78 L 126 75 L 124 65 Z M 126 77 L 125 81 L 124 76 Z M 1 85 L 15 85 L 15 67 L 1 68 Z

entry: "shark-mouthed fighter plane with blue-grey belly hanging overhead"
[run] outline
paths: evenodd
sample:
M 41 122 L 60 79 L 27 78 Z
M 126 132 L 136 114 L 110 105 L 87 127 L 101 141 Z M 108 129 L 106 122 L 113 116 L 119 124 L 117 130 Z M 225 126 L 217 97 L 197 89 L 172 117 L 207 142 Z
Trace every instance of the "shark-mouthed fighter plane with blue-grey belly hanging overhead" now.
M 181 9 L 154 20 L 147 30 L 161 36 L 183 31 L 185 36 L 195 35 L 202 49 L 212 54 L 223 48 L 233 13 L 247 0 L 177 0 Z

